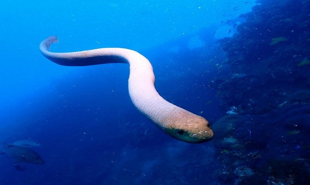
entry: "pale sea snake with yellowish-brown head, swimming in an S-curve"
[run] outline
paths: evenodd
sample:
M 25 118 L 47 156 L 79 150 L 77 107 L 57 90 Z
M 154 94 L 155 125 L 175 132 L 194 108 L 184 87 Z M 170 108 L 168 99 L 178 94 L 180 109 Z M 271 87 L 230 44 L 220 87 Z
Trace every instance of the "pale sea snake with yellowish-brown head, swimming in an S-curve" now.
M 128 89 L 131 101 L 147 118 L 168 135 L 187 143 L 202 143 L 213 137 L 209 122 L 196 114 L 177 107 L 162 98 L 154 87 L 155 76 L 148 59 L 124 48 L 52 53 L 50 45 L 58 37 L 50 36 L 40 44 L 43 56 L 63 66 L 89 66 L 106 63 L 129 63 Z

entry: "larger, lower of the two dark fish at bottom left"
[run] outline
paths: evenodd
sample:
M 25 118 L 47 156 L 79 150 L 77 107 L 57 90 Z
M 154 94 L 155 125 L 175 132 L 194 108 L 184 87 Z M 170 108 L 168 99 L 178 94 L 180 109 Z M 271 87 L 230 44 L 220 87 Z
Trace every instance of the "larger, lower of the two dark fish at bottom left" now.
M 36 151 L 27 147 L 3 145 L 3 149 L 0 154 L 6 154 L 7 156 L 17 160 L 20 163 L 31 163 L 36 165 L 44 164 L 41 156 Z

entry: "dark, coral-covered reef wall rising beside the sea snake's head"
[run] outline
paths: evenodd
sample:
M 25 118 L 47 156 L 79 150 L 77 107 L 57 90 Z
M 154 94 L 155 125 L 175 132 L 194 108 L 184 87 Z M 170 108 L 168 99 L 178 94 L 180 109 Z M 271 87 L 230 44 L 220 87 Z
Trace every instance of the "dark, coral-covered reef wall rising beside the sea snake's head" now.
M 214 123 L 222 184 L 310 180 L 310 0 L 257 0 L 219 41 L 229 69 L 212 80 L 227 116 Z

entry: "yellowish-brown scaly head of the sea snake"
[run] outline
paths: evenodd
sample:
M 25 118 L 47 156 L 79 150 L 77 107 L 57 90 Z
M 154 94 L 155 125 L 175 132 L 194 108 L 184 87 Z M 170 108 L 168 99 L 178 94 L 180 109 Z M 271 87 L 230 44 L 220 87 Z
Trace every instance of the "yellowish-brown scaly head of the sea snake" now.
M 166 132 L 187 143 L 203 143 L 211 140 L 214 135 L 209 122 L 192 113 L 171 124 Z

